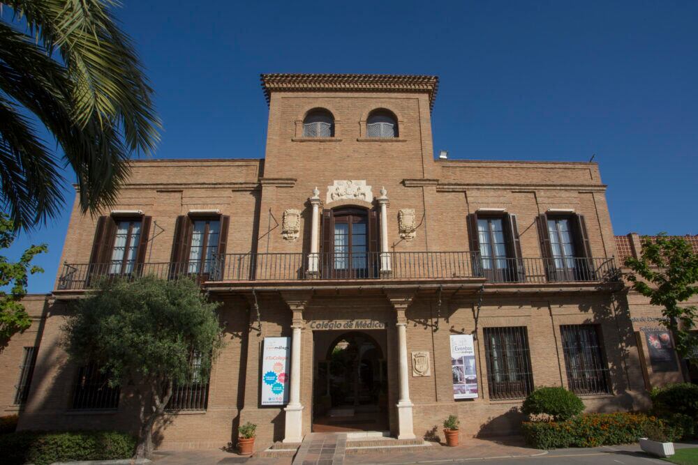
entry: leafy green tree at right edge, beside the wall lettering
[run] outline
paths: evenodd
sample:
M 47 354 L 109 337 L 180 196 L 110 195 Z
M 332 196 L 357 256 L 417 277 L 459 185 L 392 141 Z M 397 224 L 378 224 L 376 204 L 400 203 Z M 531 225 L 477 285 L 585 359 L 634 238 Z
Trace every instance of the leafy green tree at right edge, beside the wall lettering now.
M 665 233 L 645 237 L 641 257 L 629 257 L 625 266 L 632 270 L 628 275 L 632 288 L 662 308 L 661 323 L 674 336 L 678 354 L 696 360 L 698 337 L 694 330 L 698 312 L 695 305 L 684 305 L 698 294 L 698 255 L 691 245 Z

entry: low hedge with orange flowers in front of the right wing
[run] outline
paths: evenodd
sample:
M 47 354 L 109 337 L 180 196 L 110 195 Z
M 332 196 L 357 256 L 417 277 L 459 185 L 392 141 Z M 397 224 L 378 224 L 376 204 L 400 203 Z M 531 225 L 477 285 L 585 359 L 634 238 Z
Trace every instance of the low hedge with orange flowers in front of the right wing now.
M 584 413 L 562 422 L 523 422 L 521 429 L 526 443 L 537 449 L 589 448 L 634 443 L 651 424 L 667 431 L 659 418 L 625 412 Z

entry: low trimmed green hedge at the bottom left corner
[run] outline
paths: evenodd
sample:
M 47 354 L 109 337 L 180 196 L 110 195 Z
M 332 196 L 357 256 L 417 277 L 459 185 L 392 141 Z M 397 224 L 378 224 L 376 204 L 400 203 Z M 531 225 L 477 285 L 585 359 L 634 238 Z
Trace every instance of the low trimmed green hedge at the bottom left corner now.
M 130 434 L 112 431 L 20 431 L 0 435 L 2 463 L 7 465 L 130 459 L 135 446 L 136 439 Z

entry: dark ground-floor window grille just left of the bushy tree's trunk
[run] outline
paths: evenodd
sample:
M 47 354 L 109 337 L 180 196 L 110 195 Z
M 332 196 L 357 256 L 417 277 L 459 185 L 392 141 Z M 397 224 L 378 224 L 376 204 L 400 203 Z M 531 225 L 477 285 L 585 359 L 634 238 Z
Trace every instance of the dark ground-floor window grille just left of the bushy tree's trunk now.
M 116 409 L 119 406 L 119 387 L 112 388 L 109 376 L 101 372 L 95 363 L 88 363 L 77 370 L 73 409 Z

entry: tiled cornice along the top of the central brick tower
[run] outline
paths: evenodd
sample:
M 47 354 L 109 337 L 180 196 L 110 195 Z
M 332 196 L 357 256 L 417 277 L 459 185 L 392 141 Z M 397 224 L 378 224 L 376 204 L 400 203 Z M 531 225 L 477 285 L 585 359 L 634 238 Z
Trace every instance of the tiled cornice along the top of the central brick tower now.
M 361 74 L 285 74 L 260 75 L 267 105 L 272 92 L 396 92 L 427 93 L 433 109 L 438 76 L 361 75 Z

